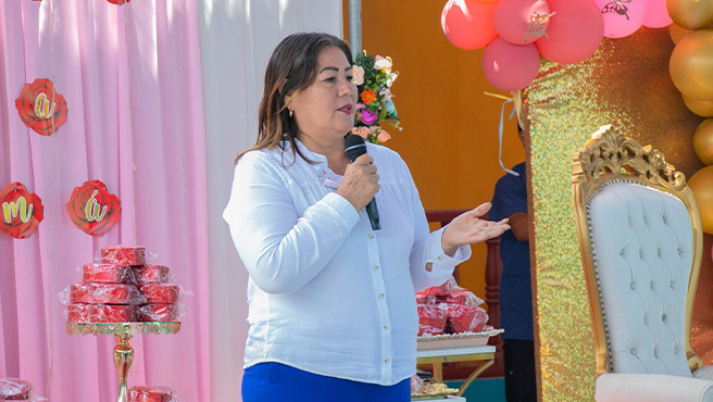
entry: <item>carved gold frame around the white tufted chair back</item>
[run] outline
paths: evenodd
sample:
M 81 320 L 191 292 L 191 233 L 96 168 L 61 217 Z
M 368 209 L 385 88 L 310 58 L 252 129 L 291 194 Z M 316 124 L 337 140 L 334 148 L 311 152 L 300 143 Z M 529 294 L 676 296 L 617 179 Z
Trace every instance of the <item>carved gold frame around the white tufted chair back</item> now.
M 597 272 L 592 260 L 587 204 L 599 190 L 612 180 L 636 181 L 664 191 L 679 199 L 688 211 L 693 227 L 693 259 L 686 301 L 685 348 L 691 372 L 702 367 L 703 361 L 693 352 L 690 346 L 690 326 L 702 261 L 703 230 L 698 204 L 693 198 L 693 192 L 686 185 L 685 175 L 677 172 L 672 164 L 666 163 L 662 152 L 651 146 L 641 147 L 631 138 L 623 136 L 616 129 L 612 129 L 611 125 L 601 127 L 595 133 L 586 146 L 574 153 L 573 160 L 572 192 L 574 196 L 577 239 L 595 331 L 597 375 L 611 373 L 612 362 L 606 342 Z

